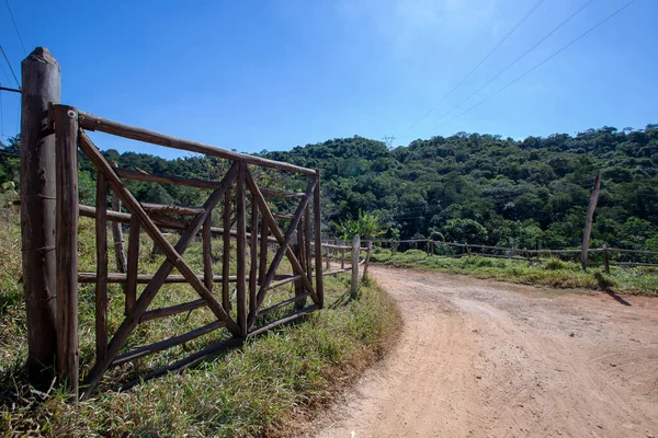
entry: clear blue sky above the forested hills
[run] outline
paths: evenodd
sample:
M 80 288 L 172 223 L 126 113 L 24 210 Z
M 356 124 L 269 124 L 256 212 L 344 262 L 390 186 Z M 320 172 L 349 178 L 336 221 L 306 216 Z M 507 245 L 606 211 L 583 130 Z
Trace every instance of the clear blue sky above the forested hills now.
M 353 135 L 394 135 L 397 146 L 457 131 L 524 138 L 657 123 L 656 0 L 636 0 L 532 73 L 452 119 L 627 1 L 542 1 L 447 99 L 538 0 L 10 4 L 27 51 L 46 46 L 61 65 L 64 103 L 257 152 Z M 583 5 L 490 85 L 441 118 Z M 0 3 L 0 44 L 20 74 L 25 55 L 7 7 Z M 11 84 L 1 62 L 0 81 Z M 13 135 L 18 100 L 3 93 L 2 110 L 3 134 Z M 177 154 L 109 136 L 97 136 L 97 141 L 102 149 Z

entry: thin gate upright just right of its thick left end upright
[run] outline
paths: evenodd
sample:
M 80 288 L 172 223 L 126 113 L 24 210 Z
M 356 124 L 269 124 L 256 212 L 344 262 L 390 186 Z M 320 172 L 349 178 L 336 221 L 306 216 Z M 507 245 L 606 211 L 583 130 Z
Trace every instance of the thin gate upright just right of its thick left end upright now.
M 97 284 L 95 284 L 95 342 L 97 362 L 107 355 L 107 182 L 97 174 Z

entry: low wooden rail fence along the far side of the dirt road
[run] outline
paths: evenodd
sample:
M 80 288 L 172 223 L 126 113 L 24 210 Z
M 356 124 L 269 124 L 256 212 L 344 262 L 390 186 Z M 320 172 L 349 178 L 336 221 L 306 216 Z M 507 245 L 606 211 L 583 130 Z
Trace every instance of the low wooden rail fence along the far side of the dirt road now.
M 506 246 L 491 246 L 491 245 L 478 245 L 472 243 L 456 243 L 456 242 L 445 242 L 445 241 L 435 241 L 431 239 L 408 239 L 408 240 L 376 240 L 379 246 L 387 246 L 392 250 L 392 252 L 396 252 L 399 250 L 400 245 L 413 245 L 413 246 L 423 246 L 423 250 L 428 254 L 436 254 L 438 250 L 441 245 L 446 247 L 455 247 L 458 249 L 457 253 L 451 254 L 455 257 L 461 257 L 464 255 L 478 255 L 483 257 L 494 257 L 494 258 L 511 258 L 519 261 L 531 261 L 533 258 L 541 257 L 555 257 L 555 256 L 572 256 L 578 257 L 582 253 L 582 250 L 529 250 L 529 249 L 518 249 L 518 247 L 506 247 Z M 646 256 L 654 260 L 658 260 L 657 251 L 639 251 L 639 250 L 625 250 L 619 247 L 608 247 L 603 245 L 602 247 L 589 247 L 587 250 L 588 254 L 597 254 L 601 256 L 600 263 L 604 266 L 606 272 L 610 272 L 610 265 L 619 265 L 619 266 L 646 266 L 646 267 L 658 267 L 658 263 L 655 262 L 638 262 L 631 260 L 617 260 L 619 257 L 613 257 L 612 254 L 628 254 L 634 256 Z M 588 260 L 590 260 L 588 257 Z

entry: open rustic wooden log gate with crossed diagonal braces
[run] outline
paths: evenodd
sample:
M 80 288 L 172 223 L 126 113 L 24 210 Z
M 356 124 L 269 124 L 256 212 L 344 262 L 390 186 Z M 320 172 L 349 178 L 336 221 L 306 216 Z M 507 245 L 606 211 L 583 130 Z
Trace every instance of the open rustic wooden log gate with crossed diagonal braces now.
M 67 105 L 50 105 L 50 128 L 56 136 L 56 291 L 57 291 L 57 368 L 67 379 L 75 394 L 79 393 L 78 351 L 78 286 L 95 283 L 95 362 L 86 376 L 81 394 L 88 396 L 103 374 L 113 366 L 135 360 L 146 355 L 183 344 L 215 330 L 225 327 L 232 337 L 211 345 L 203 350 L 166 368 L 169 370 L 193 365 L 227 344 L 262 333 L 279 324 L 293 321 L 322 308 L 322 260 L 320 242 L 320 175 L 318 171 L 275 162 L 260 157 L 246 155 L 194 141 L 182 140 L 106 120 Z M 186 178 L 177 175 L 156 175 L 118 169 L 101 154 L 86 131 L 97 130 L 124 138 L 160 145 L 219 159 L 229 160 L 230 166 L 220 181 Z M 97 171 L 95 206 L 80 206 L 78 200 L 78 149 L 90 160 Z M 276 169 L 304 176 L 306 189 L 288 193 L 259 187 L 252 173 L 254 166 Z M 252 169 L 250 169 L 252 168 Z M 124 181 L 138 180 L 152 183 L 177 184 L 212 191 L 202 207 L 158 206 L 139 203 Z M 127 212 L 107 208 L 109 188 L 124 204 Z M 268 197 L 296 200 L 293 214 L 272 211 Z M 235 203 L 232 199 L 235 198 Z M 248 211 L 250 200 L 250 211 Z M 211 214 L 222 209 L 223 228 L 211 224 Z M 175 217 L 167 214 L 174 214 Z M 78 269 L 78 217 L 95 218 L 98 265 L 95 273 Z M 190 220 L 181 219 L 186 215 Z M 231 216 L 235 228 L 231 229 Z M 280 227 L 277 220 L 288 223 Z M 129 223 L 127 270 L 110 273 L 107 263 L 107 221 Z M 249 222 L 250 232 L 247 232 Z M 169 242 L 161 229 L 175 229 L 180 237 L 175 244 Z M 138 274 L 139 232 L 144 230 L 164 254 L 166 260 L 154 275 Z M 220 234 L 224 241 L 223 272 L 213 273 L 211 237 Z M 313 238 L 311 238 L 313 234 Z M 185 250 L 201 237 L 203 245 L 203 275 L 197 275 L 185 261 Z M 237 275 L 229 276 L 230 239 L 235 239 Z M 268 258 L 268 246 L 275 252 Z M 249 251 L 249 261 L 247 247 Z M 260 251 L 259 251 L 260 249 Z M 315 256 L 314 256 L 315 253 Z M 285 258 L 292 266 L 288 275 L 277 274 Z M 311 260 L 315 258 L 315 260 Z M 249 267 L 248 267 L 249 266 Z M 172 275 L 173 269 L 180 275 Z M 295 281 L 295 296 L 262 309 L 265 296 L 277 286 Z M 114 333 L 107 328 L 107 284 L 125 284 L 125 319 Z M 169 307 L 150 309 L 154 298 L 167 283 L 186 283 L 198 293 L 198 299 Z M 235 283 L 236 297 L 229 295 L 229 283 Z M 137 284 L 146 284 L 137 293 Z M 220 284 L 220 293 L 215 291 Z M 309 298 L 311 303 L 303 303 Z M 257 318 L 296 303 L 287 316 L 257 326 Z M 192 332 L 154 344 L 125 350 L 131 334 L 147 321 L 189 312 L 207 307 L 216 321 Z M 235 307 L 234 315 L 231 308 Z

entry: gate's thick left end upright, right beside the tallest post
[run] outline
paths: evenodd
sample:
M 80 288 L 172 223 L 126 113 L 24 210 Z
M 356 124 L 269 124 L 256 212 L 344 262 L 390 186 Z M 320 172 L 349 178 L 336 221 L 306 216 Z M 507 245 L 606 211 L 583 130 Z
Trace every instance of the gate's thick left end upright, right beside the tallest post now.
M 53 106 L 56 136 L 57 372 L 78 399 L 78 111 Z

